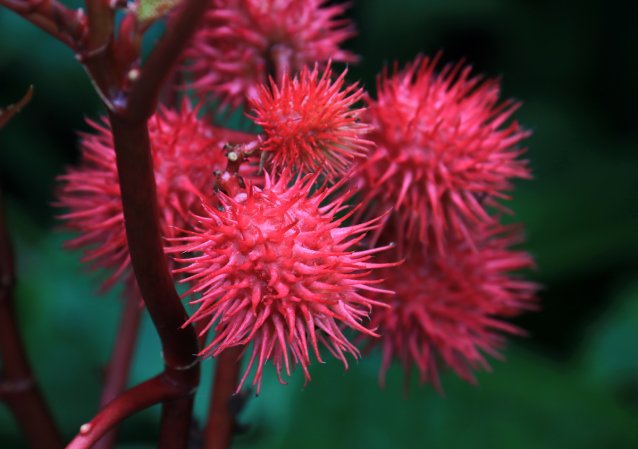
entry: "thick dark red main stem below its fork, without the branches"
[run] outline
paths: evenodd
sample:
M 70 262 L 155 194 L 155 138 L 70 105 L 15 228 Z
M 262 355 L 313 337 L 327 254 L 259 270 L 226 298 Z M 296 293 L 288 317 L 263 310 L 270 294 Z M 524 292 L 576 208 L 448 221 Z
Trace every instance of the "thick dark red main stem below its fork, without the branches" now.
M 120 178 L 124 222 L 131 263 L 149 314 L 159 334 L 164 354 L 164 375 L 182 391 L 180 399 L 164 404 L 162 435 L 178 434 L 190 427 L 192 396 L 199 383 L 199 352 L 192 326 L 182 328 L 187 315 L 175 291 L 164 255 L 153 161 L 146 122 L 128 122 L 110 114 Z M 176 411 L 167 409 L 174 408 Z M 177 419 L 177 417 L 181 419 Z M 175 438 L 181 438 L 176 441 Z M 188 434 L 160 440 L 162 449 L 186 447 Z

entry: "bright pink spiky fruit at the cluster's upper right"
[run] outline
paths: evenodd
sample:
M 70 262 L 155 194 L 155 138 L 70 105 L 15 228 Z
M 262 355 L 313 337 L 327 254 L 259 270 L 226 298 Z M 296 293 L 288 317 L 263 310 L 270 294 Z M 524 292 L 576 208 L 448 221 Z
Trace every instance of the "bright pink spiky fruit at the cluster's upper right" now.
M 494 224 L 489 209 L 503 209 L 513 179 L 530 178 L 519 159 L 530 133 L 507 124 L 519 104 L 499 103 L 497 80 L 460 63 L 436 73 L 437 60 L 379 77 L 368 109 L 377 147 L 357 182 L 373 215 L 394 207 L 397 242 L 443 253 L 448 237 L 470 239 L 470 228 Z

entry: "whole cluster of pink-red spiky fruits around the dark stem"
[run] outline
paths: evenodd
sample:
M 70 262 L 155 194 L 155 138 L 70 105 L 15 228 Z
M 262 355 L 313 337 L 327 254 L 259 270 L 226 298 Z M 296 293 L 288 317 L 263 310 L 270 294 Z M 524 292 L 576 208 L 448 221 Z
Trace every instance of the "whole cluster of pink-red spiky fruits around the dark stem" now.
M 512 273 L 531 258 L 509 249 L 519 236 L 496 215 L 530 176 L 528 132 L 508 124 L 517 104 L 428 58 L 384 73 L 373 99 L 333 76 L 330 58 L 356 59 L 339 48 L 353 34 L 343 12 L 213 0 L 185 79 L 202 102 L 250 108 L 260 134 L 214 127 L 186 102 L 149 122 L 167 252 L 196 306 L 184 325 L 203 357 L 243 349 L 239 388 L 251 368 L 259 388 L 268 361 L 282 382 L 295 365 L 308 380 L 321 347 L 347 367 L 359 350 L 346 329 L 381 345 L 382 376 L 398 358 L 423 382 L 438 385 L 441 364 L 471 380 L 518 332 L 504 320 L 534 304 L 535 286 Z M 59 205 L 80 233 L 69 246 L 112 283 L 131 278 L 116 158 L 109 129 L 91 126 Z

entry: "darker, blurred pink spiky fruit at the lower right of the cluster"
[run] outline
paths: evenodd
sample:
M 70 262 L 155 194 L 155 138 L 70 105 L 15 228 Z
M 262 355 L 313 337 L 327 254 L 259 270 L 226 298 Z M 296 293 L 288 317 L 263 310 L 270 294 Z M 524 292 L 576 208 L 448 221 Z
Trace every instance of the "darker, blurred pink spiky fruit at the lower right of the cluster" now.
M 384 286 L 396 292 L 380 298 L 390 308 L 375 308 L 371 326 L 382 348 L 381 383 L 393 359 L 406 381 L 413 366 L 421 383 L 438 390 L 441 365 L 474 382 L 473 372 L 489 369 L 485 354 L 499 357 L 504 334 L 522 334 L 506 322 L 536 306 L 538 286 L 514 272 L 533 267 L 523 251 L 510 249 L 520 241 L 511 229 L 475 231 L 474 247 L 464 239 L 448 243 L 445 254 L 414 252 L 398 267 L 382 268 Z

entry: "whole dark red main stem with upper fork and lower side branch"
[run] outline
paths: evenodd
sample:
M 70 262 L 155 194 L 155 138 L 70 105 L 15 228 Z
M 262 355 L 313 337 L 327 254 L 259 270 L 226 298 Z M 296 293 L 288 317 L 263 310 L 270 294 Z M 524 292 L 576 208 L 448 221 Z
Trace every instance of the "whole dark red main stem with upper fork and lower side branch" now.
M 42 1 L 42 4 L 50 4 L 49 1 L 55 0 Z M 86 0 L 90 26 L 98 27 L 89 32 L 90 44 L 101 42 L 98 37 L 109 27 L 107 22 L 111 20 L 110 15 L 105 17 L 106 14 L 97 13 L 103 10 L 105 1 Z M 31 4 L 16 0 L 0 2 L 14 7 Z M 74 48 L 85 51 L 81 52 L 80 59 L 84 62 L 96 91 L 109 109 L 131 264 L 162 345 L 164 372 L 160 376 L 161 385 L 170 385 L 171 394 L 159 394 L 162 390 L 155 382 L 144 383 L 119 396 L 97 415 L 88 430 L 83 426 L 70 448 L 89 447 L 124 417 L 159 401 L 166 401 L 162 409 L 159 448 L 182 449 L 188 442 L 193 395 L 199 384 L 199 363 L 196 356 L 198 343 L 192 326 L 182 328 L 187 315 L 175 291 L 163 251 L 146 122 L 155 110 L 162 85 L 182 49 L 197 30 L 209 3 L 208 0 L 182 0 L 178 7 L 180 10 L 172 15 L 164 37 L 135 77 L 118 71 L 119 65 L 114 53 L 106 51 L 106 47 L 91 48 L 89 45 L 89 51 L 86 52 L 87 48 L 80 37 L 74 36 L 72 42 Z M 14 10 L 20 13 L 19 8 Z M 27 15 L 29 11 L 22 9 L 21 13 Z M 68 41 L 66 34 L 54 35 Z M 112 41 L 111 35 L 109 42 Z M 103 73 L 98 73 L 102 70 L 109 73 L 108 78 L 104 78 Z M 110 85 L 112 80 L 122 84 L 127 79 L 133 82 L 128 92 L 124 85 Z M 155 387 L 158 388 L 157 391 L 154 390 Z M 99 431 L 93 431 L 94 427 Z M 91 438 L 87 438 L 87 434 Z

